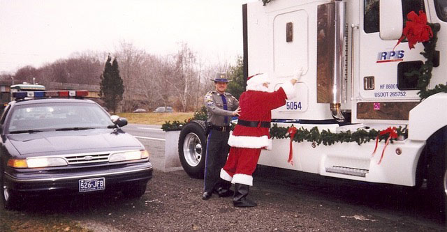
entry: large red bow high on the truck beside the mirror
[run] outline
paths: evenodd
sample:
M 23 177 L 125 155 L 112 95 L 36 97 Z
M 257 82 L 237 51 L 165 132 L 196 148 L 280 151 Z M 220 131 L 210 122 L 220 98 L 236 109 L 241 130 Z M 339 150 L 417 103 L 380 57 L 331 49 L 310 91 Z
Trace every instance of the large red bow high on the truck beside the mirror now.
M 419 10 L 419 15 L 411 11 L 406 15 L 406 18 L 408 20 L 406 20 L 404 30 L 402 31 L 403 35 L 394 47 L 406 38 L 408 46 L 412 49 L 416 43 L 428 41 L 433 37 L 432 28 L 427 25 L 427 15 L 425 15 L 423 10 Z

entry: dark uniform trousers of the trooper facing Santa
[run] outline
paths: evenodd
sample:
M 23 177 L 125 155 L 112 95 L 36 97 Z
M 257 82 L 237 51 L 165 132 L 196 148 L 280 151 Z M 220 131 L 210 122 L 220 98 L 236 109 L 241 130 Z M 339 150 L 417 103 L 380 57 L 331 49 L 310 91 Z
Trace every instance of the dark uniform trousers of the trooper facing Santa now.
M 230 132 L 210 130 L 207 139 L 207 155 L 205 160 L 205 187 L 204 192 L 213 192 L 219 187 L 228 189 L 231 183 L 220 178 L 221 168 L 225 166 L 228 157 L 228 137 Z

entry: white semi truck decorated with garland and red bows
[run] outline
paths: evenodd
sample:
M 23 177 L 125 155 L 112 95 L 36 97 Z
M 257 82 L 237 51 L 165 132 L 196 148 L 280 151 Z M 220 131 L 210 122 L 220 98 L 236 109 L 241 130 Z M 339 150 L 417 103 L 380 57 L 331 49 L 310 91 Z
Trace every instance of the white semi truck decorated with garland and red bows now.
M 437 41 L 396 46 L 411 11 L 427 15 Z M 293 125 L 298 135 L 292 143 L 289 134 L 274 138 L 258 164 L 414 188 L 426 181 L 444 206 L 447 93 L 429 91 L 421 100 L 420 75 L 409 73 L 422 67 L 432 76 L 424 93 L 446 84 L 446 0 L 272 0 L 242 12 L 245 77 L 267 72 L 275 89 L 304 70 L 298 96 L 272 111 L 271 130 Z M 393 127 L 400 133 L 386 145 Z M 180 160 L 191 176 L 203 176 L 204 128 L 193 121 L 180 135 Z M 390 133 L 376 145 L 372 131 Z

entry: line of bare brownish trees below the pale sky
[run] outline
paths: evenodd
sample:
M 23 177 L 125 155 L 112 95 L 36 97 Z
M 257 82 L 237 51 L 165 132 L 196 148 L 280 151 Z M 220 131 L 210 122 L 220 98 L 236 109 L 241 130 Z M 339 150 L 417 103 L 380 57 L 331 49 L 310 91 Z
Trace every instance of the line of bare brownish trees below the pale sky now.
M 210 64 L 186 43 L 180 44 L 174 54 L 161 56 L 123 41 L 112 54 L 75 53 L 40 68 L 24 66 L 15 75 L 0 75 L 0 79 L 13 80 L 15 84 L 37 82 L 48 86 L 50 82 L 61 82 L 99 86 L 105 66 L 112 64 L 108 59 L 117 61 L 124 86 L 117 111 L 137 108 L 152 111 L 160 106 L 171 106 L 176 111 L 195 111 L 203 106 L 203 95 L 214 89 L 210 78 L 220 71 L 228 72 L 233 79 L 228 85 L 230 93 L 238 97 L 243 91 L 240 57 L 234 65 L 228 62 Z

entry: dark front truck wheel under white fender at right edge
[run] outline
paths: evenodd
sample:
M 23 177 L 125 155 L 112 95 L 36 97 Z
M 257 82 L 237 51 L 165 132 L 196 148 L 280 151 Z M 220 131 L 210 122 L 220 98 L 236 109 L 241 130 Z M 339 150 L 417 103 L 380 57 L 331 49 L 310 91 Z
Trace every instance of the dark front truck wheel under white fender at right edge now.
M 442 215 L 447 210 L 447 127 L 435 132 L 427 140 L 428 154 L 427 189 L 430 192 L 432 206 Z

